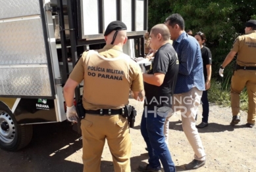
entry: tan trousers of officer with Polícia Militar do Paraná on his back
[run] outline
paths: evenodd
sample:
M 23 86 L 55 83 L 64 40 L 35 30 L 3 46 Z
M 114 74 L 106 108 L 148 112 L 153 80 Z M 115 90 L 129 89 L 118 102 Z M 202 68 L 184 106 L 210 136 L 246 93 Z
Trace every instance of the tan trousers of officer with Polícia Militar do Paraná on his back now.
M 100 172 L 105 139 L 109 144 L 115 172 L 130 172 L 132 142 L 128 121 L 120 115 L 86 114 L 81 121 L 84 172 Z

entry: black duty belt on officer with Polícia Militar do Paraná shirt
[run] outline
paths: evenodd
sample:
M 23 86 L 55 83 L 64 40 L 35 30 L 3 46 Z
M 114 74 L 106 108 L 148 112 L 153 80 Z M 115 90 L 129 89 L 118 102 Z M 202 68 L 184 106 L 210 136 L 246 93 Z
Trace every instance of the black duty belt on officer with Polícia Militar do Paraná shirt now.
M 99 110 L 86 110 L 86 114 L 93 114 L 98 116 L 112 116 L 124 114 L 124 108 L 121 109 L 99 109 Z

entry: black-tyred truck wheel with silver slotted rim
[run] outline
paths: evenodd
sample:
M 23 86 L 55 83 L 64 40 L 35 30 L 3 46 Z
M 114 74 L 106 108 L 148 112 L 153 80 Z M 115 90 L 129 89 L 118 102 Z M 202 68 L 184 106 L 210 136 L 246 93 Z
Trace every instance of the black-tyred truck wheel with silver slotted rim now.
M 0 102 L 0 148 L 17 151 L 30 143 L 32 125 L 18 125 L 11 110 Z

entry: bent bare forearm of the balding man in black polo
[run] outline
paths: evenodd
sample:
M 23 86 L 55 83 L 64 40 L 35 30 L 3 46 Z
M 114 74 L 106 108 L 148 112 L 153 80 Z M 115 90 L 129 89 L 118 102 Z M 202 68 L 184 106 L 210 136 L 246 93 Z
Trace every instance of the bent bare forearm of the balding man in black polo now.
M 143 81 L 151 85 L 161 86 L 164 82 L 165 74 L 143 74 Z

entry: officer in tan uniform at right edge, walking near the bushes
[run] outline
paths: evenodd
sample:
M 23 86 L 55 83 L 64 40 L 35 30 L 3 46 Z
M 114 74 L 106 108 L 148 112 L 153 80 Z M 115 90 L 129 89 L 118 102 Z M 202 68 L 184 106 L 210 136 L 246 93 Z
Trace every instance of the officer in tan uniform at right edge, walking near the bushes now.
M 234 47 L 226 56 L 220 66 L 219 74 L 223 77 L 224 68 L 236 59 L 236 71 L 231 80 L 231 108 L 233 118 L 231 125 L 240 122 L 240 93 L 246 86 L 248 93 L 247 127 L 255 125 L 256 118 L 256 20 L 249 20 L 245 24 L 245 35 L 239 36 L 234 42 Z

